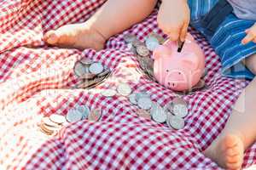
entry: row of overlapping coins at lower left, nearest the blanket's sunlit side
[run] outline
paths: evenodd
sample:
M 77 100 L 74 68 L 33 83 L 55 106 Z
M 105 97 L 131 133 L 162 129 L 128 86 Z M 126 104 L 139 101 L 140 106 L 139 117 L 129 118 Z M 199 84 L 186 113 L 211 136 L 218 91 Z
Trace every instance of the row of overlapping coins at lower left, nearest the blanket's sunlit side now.
M 69 110 L 66 116 L 57 114 L 44 116 L 38 124 L 38 127 L 47 135 L 55 135 L 61 127 L 67 125 L 69 122 L 78 122 L 84 119 L 90 122 L 98 122 L 101 117 L 102 111 L 100 109 L 90 111 L 87 105 L 79 105 Z

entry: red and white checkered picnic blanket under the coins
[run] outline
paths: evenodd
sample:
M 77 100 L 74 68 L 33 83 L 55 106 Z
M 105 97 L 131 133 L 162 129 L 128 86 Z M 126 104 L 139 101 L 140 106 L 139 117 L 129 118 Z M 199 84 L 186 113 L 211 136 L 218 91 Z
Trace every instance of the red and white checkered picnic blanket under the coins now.
M 201 154 L 223 129 L 247 81 L 222 77 L 220 61 L 206 39 L 189 31 L 206 54 L 208 89 L 185 95 L 189 116 L 176 131 L 136 115 L 137 106 L 121 96 L 103 97 L 100 88 L 127 82 L 166 105 L 177 96 L 137 71 L 137 58 L 124 35 L 143 40 L 157 27 L 157 9 L 143 22 L 111 37 L 104 50 L 49 47 L 45 31 L 87 20 L 105 0 L 0 1 L 0 169 L 220 169 Z M 113 75 L 93 90 L 71 89 L 78 59 L 100 61 Z M 100 122 L 73 122 L 52 137 L 38 131 L 42 116 L 66 115 L 75 105 L 101 108 Z M 256 144 L 243 167 L 256 163 Z

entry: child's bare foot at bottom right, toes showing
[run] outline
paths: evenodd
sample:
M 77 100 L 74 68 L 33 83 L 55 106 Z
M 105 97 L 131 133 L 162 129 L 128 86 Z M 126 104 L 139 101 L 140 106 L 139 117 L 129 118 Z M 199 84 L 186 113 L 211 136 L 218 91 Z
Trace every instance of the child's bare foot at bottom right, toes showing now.
M 204 155 L 218 163 L 220 167 L 230 170 L 241 169 L 244 145 L 239 135 L 227 135 L 214 141 Z

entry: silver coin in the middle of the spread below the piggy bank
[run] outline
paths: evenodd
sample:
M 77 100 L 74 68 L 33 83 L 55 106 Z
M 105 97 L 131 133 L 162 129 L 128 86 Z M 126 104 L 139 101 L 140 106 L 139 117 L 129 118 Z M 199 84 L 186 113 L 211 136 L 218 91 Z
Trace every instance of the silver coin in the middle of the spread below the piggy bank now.
M 150 114 L 154 122 L 159 122 L 159 123 L 166 122 L 166 119 L 167 119 L 166 111 L 160 105 L 155 104 L 152 107 Z

